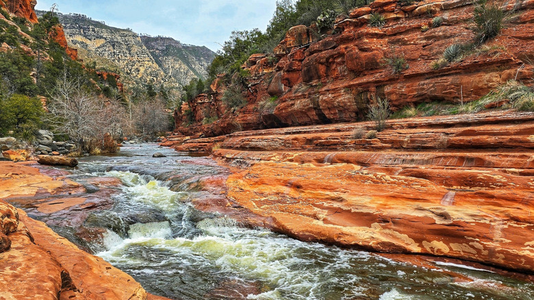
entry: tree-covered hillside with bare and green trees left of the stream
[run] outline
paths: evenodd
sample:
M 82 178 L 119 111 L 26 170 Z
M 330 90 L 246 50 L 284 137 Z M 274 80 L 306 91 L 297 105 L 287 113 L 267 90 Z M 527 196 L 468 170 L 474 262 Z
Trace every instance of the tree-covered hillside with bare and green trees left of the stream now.
M 1 136 L 31 140 L 38 129 L 51 129 L 76 142 L 81 154 L 99 152 L 94 149 L 105 136 L 155 136 L 168 129 L 164 92 L 147 88 L 129 97 L 114 75 L 69 58 L 53 40 L 58 16 L 47 12 L 36 24 L 10 18 L 16 25 L 0 20 L 0 40 L 11 48 L 0 53 Z

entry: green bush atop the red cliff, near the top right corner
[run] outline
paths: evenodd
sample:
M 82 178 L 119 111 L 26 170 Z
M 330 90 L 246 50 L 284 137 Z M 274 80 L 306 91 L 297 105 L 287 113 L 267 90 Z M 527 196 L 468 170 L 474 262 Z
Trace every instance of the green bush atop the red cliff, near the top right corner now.
M 474 8 L 474 33 L 476 42 L 482 44 L 491 40 L 500 34 L 504 27 L 505 12 L 500 10 L 497 5 L 487 5 L 482 1 Z

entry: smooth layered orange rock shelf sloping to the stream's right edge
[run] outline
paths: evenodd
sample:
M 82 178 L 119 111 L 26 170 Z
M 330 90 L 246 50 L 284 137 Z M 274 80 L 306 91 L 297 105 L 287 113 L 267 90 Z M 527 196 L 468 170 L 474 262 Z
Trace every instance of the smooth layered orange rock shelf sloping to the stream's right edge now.
M 372 139 L 358 127 L 373 125 L 227 136 L 221 210 L 301 240 L 534 271 L 534 113 L 395 120 Z

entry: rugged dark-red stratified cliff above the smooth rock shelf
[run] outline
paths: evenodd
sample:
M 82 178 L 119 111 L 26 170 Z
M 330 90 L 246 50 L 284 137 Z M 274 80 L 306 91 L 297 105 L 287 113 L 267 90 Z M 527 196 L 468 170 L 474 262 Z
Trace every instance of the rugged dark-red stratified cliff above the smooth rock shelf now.
M 243 92 L 244 108 L 231 112 L 225 107 L 221 98 L 226 86 L 218 80 L 212 94 L 199 95 L 177 111 L 177 132 L 210 137 L 240 130 L 354 122 L 365 118 L 368 103 L 376 97 L 387 97 L 392 109 L 398 110 L 427 101 L 479 99 L 516 76 L 531 83 L 534 2 L 530 0 L 500 2 L 509 18 L 499 36 L 460 62 L 438 70 L 431 67 L 450 45 L 474 39 L 474 3 L 374 1 L 347 18 L 338 18 L 335 34 L 322 40 L 312 28 L 293 27 L 275 48 L 275 58 L 255 54 L 246 62 L 244 68 L 251 76 Z M 372 12 L 385 16 L 385 26 L 368 25 Z M 444 20 L 440 27 L 431 25 L 435 16 Z M 426 32 L 421 30 L 424 25 L 430 27 Z M 394 55 L 403 56 L 409 66 L 401 74 L 386 63 Z M 272 98 L 272 105 L 271 97 L 278 97 Z M 188 110 L 194 123 L 183 127 Z M 207 116 L 219 120 L 203 125 Z

